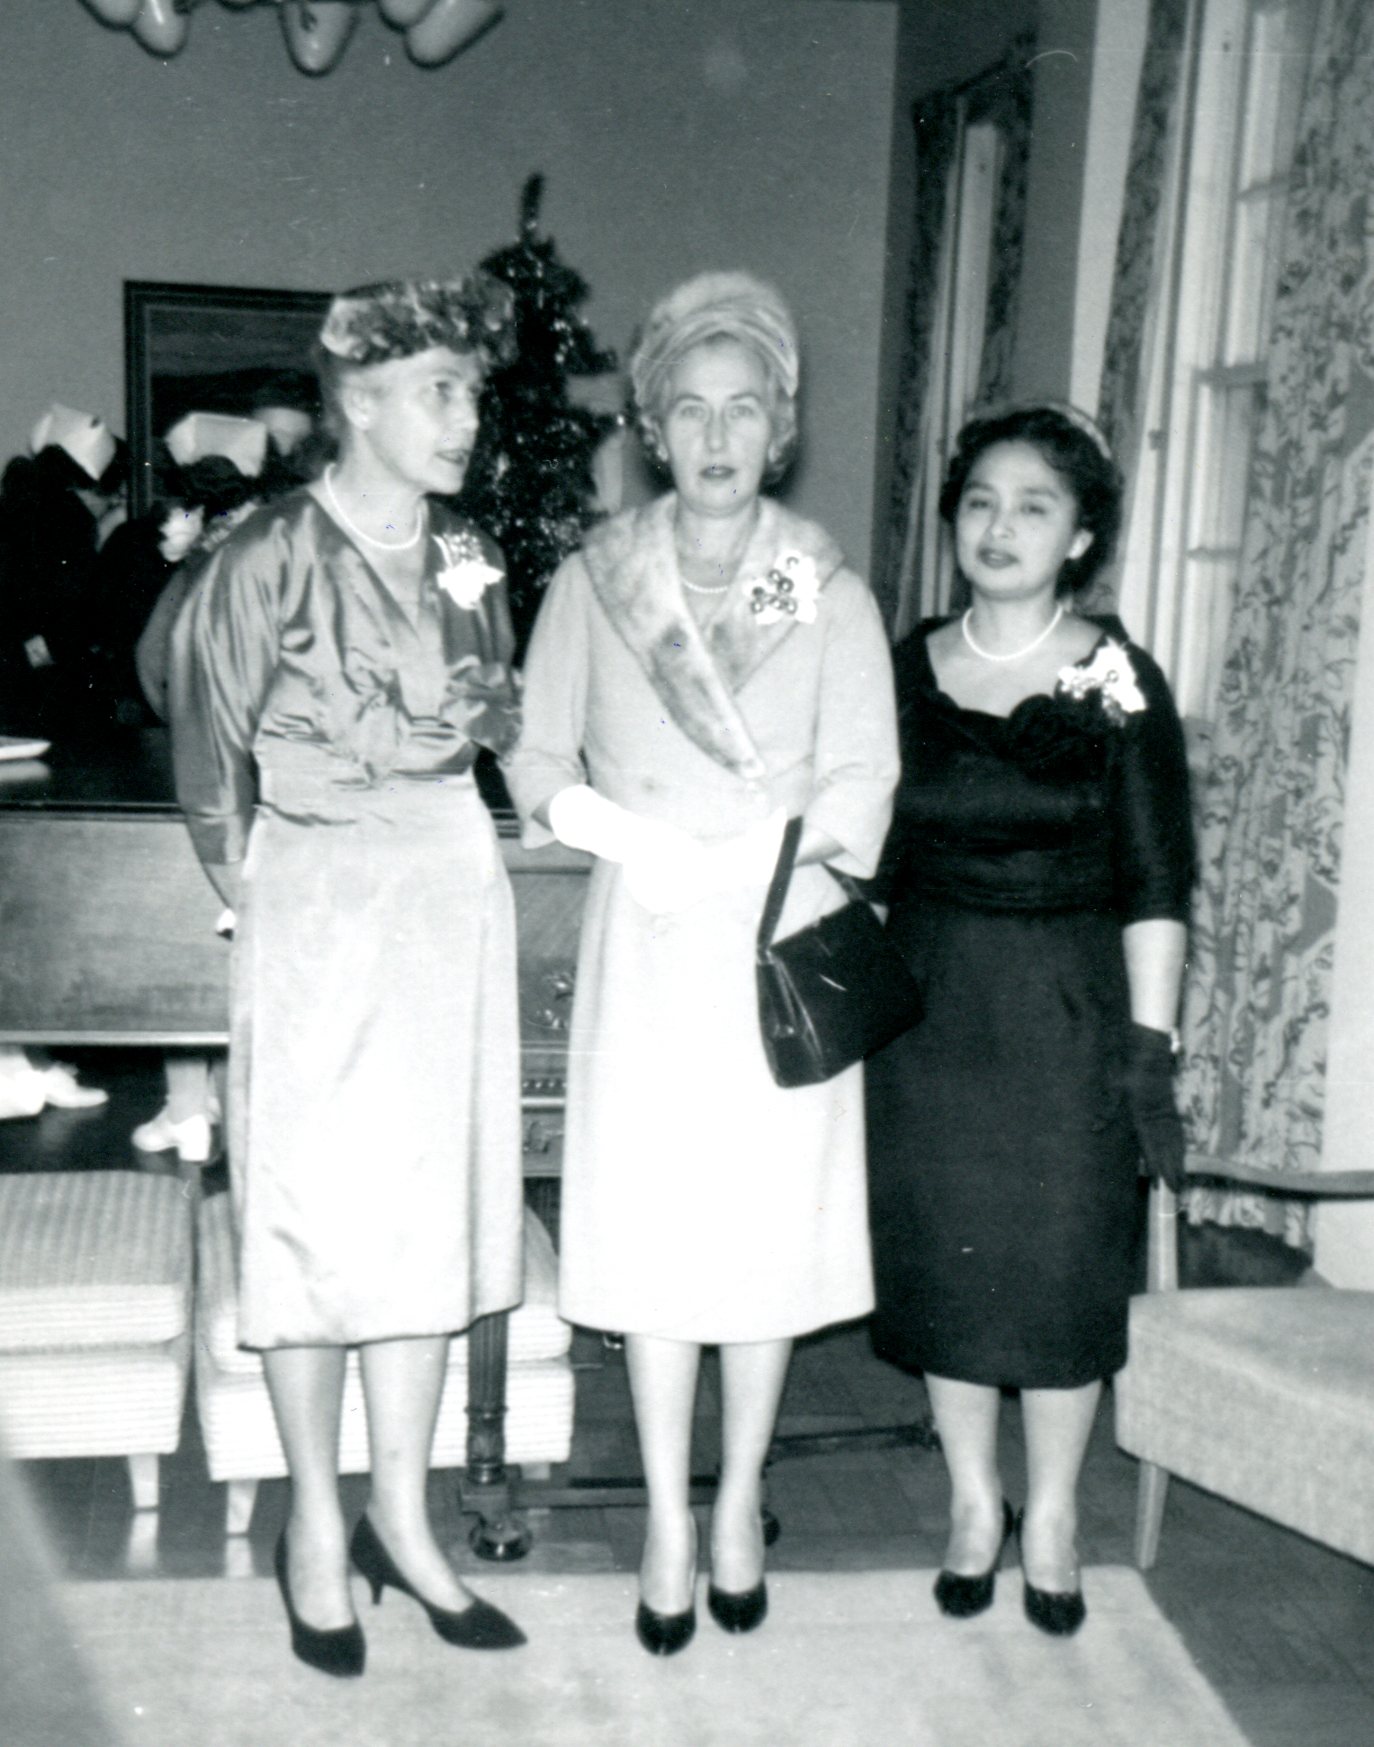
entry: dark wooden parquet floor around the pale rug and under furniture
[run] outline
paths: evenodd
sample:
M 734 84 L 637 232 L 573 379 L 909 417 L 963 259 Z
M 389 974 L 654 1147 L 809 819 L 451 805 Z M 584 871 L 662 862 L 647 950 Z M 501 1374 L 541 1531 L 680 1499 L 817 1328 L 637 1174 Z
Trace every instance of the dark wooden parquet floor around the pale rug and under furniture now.
M 0 1123 L 0 1170 L 100 1169 L 138 1160 L 129 1129 L 159 1102 L 156 1057 L 82 1057 L 87 1078 L 110 1087 L 107 1111 L 49 1111 Z M 213 1179 L 213 1174 L 212 1174 Z M 1210 1279 L 1281 1279 L 1288 1258 L 1253 1242 L 1211 1235 L 1194 1251 Z M 622 1356 L 580 1331 L 573 1474 L 635 1476 Z M 830 1329 L 797 1349 L 780 1434 L 844 1427 L 913 1426 L 925 1392 L 879 1364 L 864 1328 Z M 708 1357 L 697 1410 L 697 1469 L 715 1464 L 718 1389 Z M 1003 1412 L 1003 1474 L 1021 1497 L 1019 1412 Z M 164 1462 L 163 1509 L 135 1515 L 122 1464 L 68 1460 L 19 1464 L 59 1571 L 89 1581 L 161 1574 L 267 1572 L 281 1523 L 285 1481 L 259 1488 L 246 1541 L 224 1537 L 224 1488 L 206 1478 L 194 1413 L 180 1452 Z M 365 1480 L 346 1478 L 350 1508 L 362 1508 Z M 769 1504 L 781 1522 L 773 1569 L 930 1569 L 944 1544 L 946 1483 L 939 1454 L 923 1448 L 841 1448 L 783 1455 L 769 1471 Z M 465 1571 L 481 1574 L 467 1550 L 467 1523 L 449 1474 L 435 1474 L 432 1508 Z M 1135 1464 L 1112 1441 L 1110 1392 L 1103 1399 L 1082 1483 L 1080 1551 L 1086 1595 L 1094 1564 L 1129 1564 Z M 633 1571 L 642 1511 L 635 1506 L 535 1509 L 531 1571 Z M 0 1537 L 2 1539 L 2 1537 Z M 5 1581 L 0 1553 L 0 1586 Z M 1231 1707 L 1253 1747 L 1369 1747 L 1374 1742 L 1374 1571 L 1260 1522 L 1175 1481 L 1157 1567 L 1148 1576 L 1162 1612 Z M 629 1630 L 629 1621 L 626 1621 Z M 1028 1626 L 1030 1630 L 1030 1626 Z M 1187 1747 L 1180 1742 L 1178 1747 Z

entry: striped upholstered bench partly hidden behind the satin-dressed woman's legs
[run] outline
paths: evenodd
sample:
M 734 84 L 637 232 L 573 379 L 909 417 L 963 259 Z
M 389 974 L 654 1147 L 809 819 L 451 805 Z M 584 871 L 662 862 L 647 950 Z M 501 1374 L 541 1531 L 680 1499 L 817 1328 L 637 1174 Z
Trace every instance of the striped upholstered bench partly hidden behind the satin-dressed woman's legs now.
M 510 1312 L 505 1380 L 505 1459 L 526 1471 L 566 1462 L 572 1448 L 572 1329 L 558 1315 L 558 1258 L 533 1212 L 524 1214 L 524 1303 Z M 434 1466 L 467 1462 L 468 1342 L 449 1345 L 444 1398 L 434 1434 Z M 212 1480 L 229 1481 L 229 1534 L 245 1534 L 259 1480 L 287 1473 L 262 1363 L 238 1345 L 234 1239 L 227 1195 L 210 1195 L 199 1212 L 196 1284 L 196 1410 Z M 369 1466 L 358 1357 L 348 1356 L 339 1471 Z

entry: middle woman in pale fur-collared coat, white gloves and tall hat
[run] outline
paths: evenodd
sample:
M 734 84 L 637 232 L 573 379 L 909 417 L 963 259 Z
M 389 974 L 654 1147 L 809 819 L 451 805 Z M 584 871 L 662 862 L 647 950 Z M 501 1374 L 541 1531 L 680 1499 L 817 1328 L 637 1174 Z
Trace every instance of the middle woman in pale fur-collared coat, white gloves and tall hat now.
M 753 942 L 781 828 L 804 819 L 780 933 L 872 872 L 897 781 L 892 669 L 867 585 L 760 496 L 790 459 L 797 337 L 778 293 L 701 274 L 631 360 L 673 491 L 596 528 L 549 585 L 507 772 L 526 842 L 596 856 L 577 973 L 561 1309 L 626 1336 L 649 1487 L 636 1630 L 696 1625 L 689 1447 L 720 1345 L 708 1605 L 767 1607 L 760 1485 L 792 1338 L 872 1305 L 860 1069 L 780 1090 Z

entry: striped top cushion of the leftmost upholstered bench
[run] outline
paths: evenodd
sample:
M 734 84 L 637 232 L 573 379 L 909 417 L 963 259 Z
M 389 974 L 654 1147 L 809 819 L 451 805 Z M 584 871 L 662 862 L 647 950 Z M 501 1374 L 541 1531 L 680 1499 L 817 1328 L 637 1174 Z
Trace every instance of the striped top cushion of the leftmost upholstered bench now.
M 191 1205 L 142 1170 L 0 1176 L 0 1352 L 129 1347 L 187 1326 Z

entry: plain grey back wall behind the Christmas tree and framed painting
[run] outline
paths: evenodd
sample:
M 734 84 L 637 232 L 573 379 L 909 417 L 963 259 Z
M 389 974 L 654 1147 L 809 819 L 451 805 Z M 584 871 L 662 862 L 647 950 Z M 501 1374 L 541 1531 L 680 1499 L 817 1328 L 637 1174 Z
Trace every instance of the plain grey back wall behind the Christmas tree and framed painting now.
M 517 0 L 414 68 L 371 12 L 297 73 L 271 7 L 201 7 L 156 61 L 77 0 L 0 23 L 0 456 L 52 400 L 122 428 L 121 281 L 332 288 L 514 238 L 519 189 L 626 346 L 706 266 L 790 297 L 806 344 L 792 498 L 867 561 L 895 7 Z

